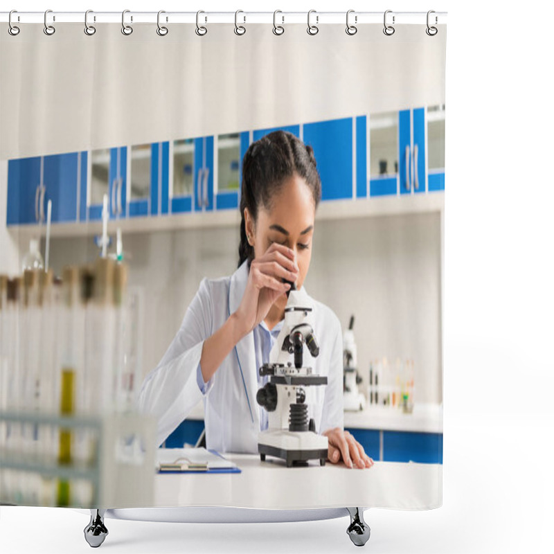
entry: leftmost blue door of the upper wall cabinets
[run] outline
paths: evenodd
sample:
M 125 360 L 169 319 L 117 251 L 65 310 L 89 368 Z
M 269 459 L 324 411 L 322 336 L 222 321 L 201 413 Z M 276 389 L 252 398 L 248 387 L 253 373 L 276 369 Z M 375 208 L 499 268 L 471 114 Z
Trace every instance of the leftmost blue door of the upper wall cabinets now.
M 40 157 L 8 161 L 6 224 L 39 222 Z

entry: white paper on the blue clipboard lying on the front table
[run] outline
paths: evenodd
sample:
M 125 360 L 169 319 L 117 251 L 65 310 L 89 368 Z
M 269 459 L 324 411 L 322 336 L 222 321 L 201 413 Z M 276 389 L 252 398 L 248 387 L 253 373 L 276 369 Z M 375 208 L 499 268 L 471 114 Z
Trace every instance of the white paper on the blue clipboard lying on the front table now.
M 237 465 L 205 448 L 159 448 L 156 470 L 160 472 L 233 470 Z

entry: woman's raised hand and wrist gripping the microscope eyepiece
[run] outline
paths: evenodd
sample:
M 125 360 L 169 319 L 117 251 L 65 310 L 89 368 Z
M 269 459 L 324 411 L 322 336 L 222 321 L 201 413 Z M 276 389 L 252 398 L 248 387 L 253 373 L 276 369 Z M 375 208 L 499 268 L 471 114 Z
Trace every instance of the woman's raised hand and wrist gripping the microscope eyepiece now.
M 273 242 L 263 256 L 250 264 L 247 287 L 235 312 L 244 334 L 255 328 L 276 299 L 290 289 L 283 279 L 296 283 L 298 265 L 293 250 Z

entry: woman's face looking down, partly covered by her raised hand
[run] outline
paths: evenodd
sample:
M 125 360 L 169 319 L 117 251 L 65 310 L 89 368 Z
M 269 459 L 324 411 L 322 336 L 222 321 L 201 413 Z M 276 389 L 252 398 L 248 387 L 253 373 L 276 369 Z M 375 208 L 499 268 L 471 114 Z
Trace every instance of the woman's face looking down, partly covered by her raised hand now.
M 253 237 L 254 257 L 261 258 L 272 242 L 292 249 L 299 269 L 296 281 L 299 289 L 310 267 L 314 236 L 314 196 L 306 181 L 296 173 L 287 179 L 271 199 L 269 211 L 260 206 L 256 224 L 249 217 L 248 208 L 245 212 L 247 234 Z M 286 294 L 281 295 L 276 304 L 284 309 Z

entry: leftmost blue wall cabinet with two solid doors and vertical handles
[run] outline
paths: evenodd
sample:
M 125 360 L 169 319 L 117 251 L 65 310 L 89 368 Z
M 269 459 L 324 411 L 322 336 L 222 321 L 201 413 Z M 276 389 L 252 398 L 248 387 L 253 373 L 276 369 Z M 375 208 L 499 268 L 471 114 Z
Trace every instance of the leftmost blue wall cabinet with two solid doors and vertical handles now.
M 8 161 L 6 224 L 46 222 L 48 200 L 53 223 L 76 221 L 80 156 L 71 152 Z

